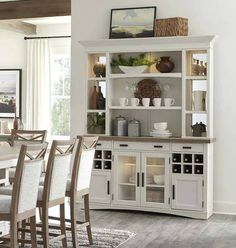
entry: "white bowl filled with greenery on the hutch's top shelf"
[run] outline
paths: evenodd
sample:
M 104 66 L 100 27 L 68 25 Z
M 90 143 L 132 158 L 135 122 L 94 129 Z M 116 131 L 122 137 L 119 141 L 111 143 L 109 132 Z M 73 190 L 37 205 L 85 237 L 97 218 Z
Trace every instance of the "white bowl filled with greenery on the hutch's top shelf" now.
M 145 54 L 140 54 L 137 57 L 124 58 L 121 54 L 117 59 L 112 59 L 111 66 L 118 66 L 124 73 L 142 73 L 148 66 L 155 64 L 156 60 L 145 58 Z

